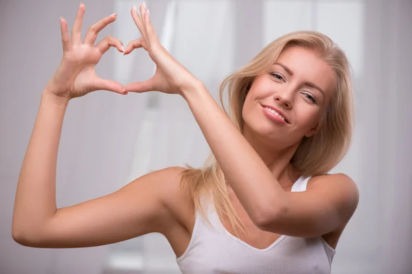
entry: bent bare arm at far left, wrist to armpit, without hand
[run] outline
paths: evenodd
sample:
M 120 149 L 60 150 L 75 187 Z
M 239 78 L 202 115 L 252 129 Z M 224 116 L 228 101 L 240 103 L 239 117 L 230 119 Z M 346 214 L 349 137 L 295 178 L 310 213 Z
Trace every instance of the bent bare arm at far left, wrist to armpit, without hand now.
M 164 234 L 165 203 L 181 168 L 155 171 L 111 195 L 56 208 L 56 159 L 65 103 L 43 94 L 16 191 L 12 236 L 30 247 L 91 247 Z

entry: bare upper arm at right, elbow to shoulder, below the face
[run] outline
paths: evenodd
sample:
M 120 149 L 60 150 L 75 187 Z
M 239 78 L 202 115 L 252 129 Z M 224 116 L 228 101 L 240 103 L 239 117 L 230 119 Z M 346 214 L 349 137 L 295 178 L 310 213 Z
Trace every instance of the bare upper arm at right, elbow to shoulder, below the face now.
M 341 229 L 358 206 L 358 187 L 344 174 L 310 178 L 303 192 L 286 192 L 288 206 L 261 229 L 296 237 L 317 237 Z

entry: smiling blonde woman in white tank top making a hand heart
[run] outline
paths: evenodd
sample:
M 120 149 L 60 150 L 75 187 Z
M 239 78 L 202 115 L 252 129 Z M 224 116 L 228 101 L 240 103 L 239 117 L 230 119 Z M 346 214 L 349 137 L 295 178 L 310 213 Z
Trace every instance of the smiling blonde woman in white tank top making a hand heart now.
M 95 39 L 116 14 L 81 42 L 80 4 L 71 38 L 61 18 L 63 58 L 43 90 L 21 168 L 12 236 L 29 247 L 107 245 L 163 234 L 183 273 L 330 273 L 334 249 L 358 204 L 356 184 L 327 175 L 352 134 L 350 66 L 323 34 L 295 32 L 263 49 L 222 83 L 230 121 L 194 75 L 160 45 L 146 5 L 131 13 L 142 37 Z M 157 64 L 145 82 L 123 87 L 95 75 L 110 47 L 143 47 Z M 204 169 L 148 173 L 111 195 L 56 208 L 56 159 L 70 99 L 93 90 L 159 90 L 181 95 L 211 147 Z

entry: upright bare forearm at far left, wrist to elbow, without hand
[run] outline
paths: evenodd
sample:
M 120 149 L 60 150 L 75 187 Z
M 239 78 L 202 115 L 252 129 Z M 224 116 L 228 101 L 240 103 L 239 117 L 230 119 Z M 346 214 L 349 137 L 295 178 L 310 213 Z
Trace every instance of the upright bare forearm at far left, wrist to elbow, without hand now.
M 14 236 L 41 231 L 56 212 L 56 162 L 68 103 L 43 92 L 17 184 Z

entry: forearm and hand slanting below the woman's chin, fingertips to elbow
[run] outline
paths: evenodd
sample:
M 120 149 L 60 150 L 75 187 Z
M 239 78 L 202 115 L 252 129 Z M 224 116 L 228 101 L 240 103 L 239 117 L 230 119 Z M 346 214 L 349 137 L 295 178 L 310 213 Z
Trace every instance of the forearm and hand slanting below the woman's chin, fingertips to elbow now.
M 229 120 L 205 85 L 184 66 L 177 62 L 160 44 L 150 16 L 140 6 L 140 17 L 131 10 L 133 20 L 142 37 L 126 47 L 125 54 L 143 47 L 156 63 L 155 75 L 144 81 L 128 84 L 128 92 L 158 90 L 168 94 L 179 94 L 187 101 L 211 151 L 222 168 L 236 196 L 256 224 L 266 222 L 267 208 L 283 208 L 286 195 L 264 164 L 258 153 Z M 256 187 L 255 182 L 260 184 Z

